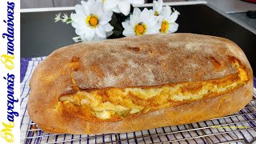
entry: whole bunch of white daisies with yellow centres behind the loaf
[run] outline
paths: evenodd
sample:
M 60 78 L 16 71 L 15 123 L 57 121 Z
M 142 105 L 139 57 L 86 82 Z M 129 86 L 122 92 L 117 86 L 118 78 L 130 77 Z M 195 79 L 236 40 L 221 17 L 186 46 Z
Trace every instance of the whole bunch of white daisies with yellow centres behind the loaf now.
M 170 6 L 162 6 L 162 0 L 154 1 L 152 10 L 134 8 L 130 14 L 130 5 L 143 4 L 144 0 L 88 0 L 76 5 L 75 14 L 57 14 L 55 22 L 65 22 L 75 28 L 74 42 L 99 41 L 113 34 L 110 25 L 113 13 L 127 16 L 122 22 L 124 36 L 143 34 L 174 33 L 178 30 L 178 11 Z M 129 17 L 130 14 L 130 17 Z

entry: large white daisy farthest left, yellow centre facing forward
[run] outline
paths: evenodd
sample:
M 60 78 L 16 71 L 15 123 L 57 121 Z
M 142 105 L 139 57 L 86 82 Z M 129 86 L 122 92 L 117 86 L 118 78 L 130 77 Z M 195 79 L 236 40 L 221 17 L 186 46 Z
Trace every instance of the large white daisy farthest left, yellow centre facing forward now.
M 82 5 L 75 6 L 76 14 L 71 14 L 72 26 L 82 41 L 106 39 L 107 34 L 114 29 L 110 25 L 112 11 L 104 11 L 102 2 L 95 0 L 82 1 Z

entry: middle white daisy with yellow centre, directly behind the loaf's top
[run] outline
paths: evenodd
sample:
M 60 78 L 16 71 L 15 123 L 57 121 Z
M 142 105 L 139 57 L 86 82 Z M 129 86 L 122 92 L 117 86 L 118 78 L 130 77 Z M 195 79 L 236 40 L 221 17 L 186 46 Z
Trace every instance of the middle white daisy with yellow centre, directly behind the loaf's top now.
M 154 16 L 153 10 L 134 9 L 134 13 L 130 15 L 130 21 L 122 22 L 122 34 L 125 36 L 157 34 L 159 26 L 157 25 L 158 18 Z

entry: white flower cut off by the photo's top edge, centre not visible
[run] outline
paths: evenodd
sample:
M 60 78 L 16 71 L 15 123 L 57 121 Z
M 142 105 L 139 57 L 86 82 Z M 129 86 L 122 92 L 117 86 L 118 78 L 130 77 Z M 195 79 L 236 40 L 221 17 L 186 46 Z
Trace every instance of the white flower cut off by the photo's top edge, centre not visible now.
M 130 13 L 130 5 L 143 4 L 144 0 L 102 0 L 105 10 L 113 10 L 115 13 L 121 12 L 124 15 Z

